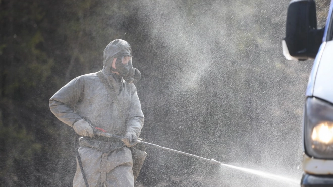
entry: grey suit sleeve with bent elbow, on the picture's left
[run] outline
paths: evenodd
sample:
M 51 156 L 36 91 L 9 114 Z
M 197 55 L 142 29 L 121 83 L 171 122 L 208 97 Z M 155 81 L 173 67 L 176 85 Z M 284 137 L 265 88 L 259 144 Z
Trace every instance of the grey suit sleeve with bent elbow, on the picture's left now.
M 74 112 L 74 106 L 84 91 L 82 77 L 77 77 L 62 87 L 49 100 L 51 112 L 60 121 L 73 127 L 73 124 L 82 117 Z

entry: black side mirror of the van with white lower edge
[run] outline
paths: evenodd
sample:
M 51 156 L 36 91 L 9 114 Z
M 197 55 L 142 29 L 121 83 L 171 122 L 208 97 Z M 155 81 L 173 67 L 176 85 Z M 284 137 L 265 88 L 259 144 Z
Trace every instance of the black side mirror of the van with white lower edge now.
M 283 54 L 288 60 L 314 59 L 322 43 L 324 29 L 317 29 L 314 0 L 294 0 L 289 3 Z

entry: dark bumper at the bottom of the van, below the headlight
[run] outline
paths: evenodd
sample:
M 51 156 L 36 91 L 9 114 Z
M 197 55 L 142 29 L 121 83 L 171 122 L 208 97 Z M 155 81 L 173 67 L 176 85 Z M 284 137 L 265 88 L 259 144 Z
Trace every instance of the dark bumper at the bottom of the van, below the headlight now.
M 333 187 L 333 175 L 303 174 L 302 187 Z

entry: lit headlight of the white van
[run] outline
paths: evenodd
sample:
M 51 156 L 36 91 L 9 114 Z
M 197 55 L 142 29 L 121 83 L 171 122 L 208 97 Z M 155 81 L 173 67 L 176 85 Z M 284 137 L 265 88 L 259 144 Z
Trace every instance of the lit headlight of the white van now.
M 333 158 L 333 105 L 309 97 L 304 110 L 305 152 L 312 157 Z

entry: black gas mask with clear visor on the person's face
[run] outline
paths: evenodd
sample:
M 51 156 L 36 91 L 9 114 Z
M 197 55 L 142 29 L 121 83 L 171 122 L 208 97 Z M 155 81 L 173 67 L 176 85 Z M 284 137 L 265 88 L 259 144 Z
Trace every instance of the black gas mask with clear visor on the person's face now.
M 141 79 L 141 73 L 138 69 L 133 68 L 132 56 L 116 56 L 115 68 L 111 66 L 113 72 L 118 72 L 123 79 L 131 84 L 136 83 Z

